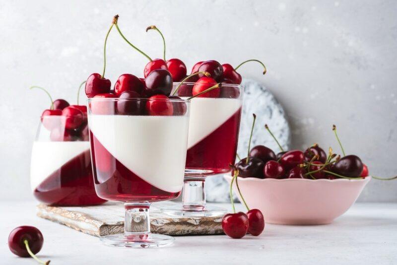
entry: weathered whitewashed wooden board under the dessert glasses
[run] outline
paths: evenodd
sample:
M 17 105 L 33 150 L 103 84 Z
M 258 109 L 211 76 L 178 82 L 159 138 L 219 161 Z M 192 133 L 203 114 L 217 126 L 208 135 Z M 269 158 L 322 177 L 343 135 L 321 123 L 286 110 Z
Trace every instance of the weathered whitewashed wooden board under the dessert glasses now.
M 216 235 L 223 234 L 219 217 L 174 217 L 161 213 L 159 206 L 175 202 L 156 202 L 150 206 L 150 229 L 166 235 Z M 63 207 L 37 205 L 37 216 L 64 224 L 77 231 L 105 236 L 124 232 L 124 205 L 108 201 L 97 206 Z

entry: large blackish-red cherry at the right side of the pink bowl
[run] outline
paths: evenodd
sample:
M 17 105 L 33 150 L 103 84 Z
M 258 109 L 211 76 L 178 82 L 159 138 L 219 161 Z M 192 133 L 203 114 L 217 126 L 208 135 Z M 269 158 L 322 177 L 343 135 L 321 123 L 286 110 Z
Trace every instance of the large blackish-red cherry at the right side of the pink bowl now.
M 364 165 L 361 159 L 356 155 L 346 155 L 333 164 L 332 172 L 344 177 L 360 177 Z

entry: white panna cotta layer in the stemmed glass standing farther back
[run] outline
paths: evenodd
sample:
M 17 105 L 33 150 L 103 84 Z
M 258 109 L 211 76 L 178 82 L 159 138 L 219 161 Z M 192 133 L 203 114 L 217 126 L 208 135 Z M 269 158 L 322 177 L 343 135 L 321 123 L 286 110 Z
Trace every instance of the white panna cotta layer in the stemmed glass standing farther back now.
M 188 149 L 218 129 L 241 105 L 240 99 L 193 98 L 190 104 Z

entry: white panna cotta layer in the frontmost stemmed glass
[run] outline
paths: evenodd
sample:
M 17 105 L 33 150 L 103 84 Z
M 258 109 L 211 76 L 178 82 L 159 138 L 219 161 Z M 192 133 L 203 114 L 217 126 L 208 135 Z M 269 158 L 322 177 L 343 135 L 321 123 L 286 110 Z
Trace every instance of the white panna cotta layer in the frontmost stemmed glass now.
M 166 192 L 182 190 L 188 117 L 89 115 L 88 126 L 135 175 Z

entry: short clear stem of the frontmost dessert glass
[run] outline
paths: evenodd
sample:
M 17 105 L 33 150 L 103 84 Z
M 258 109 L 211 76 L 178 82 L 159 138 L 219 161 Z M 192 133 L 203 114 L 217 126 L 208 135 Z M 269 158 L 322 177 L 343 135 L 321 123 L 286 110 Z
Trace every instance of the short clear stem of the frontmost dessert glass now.
M 150 203 L 145 202 L 126 202 L 126 218 L 124 221 L 125 235 L 142 235 L 150 233 Z

